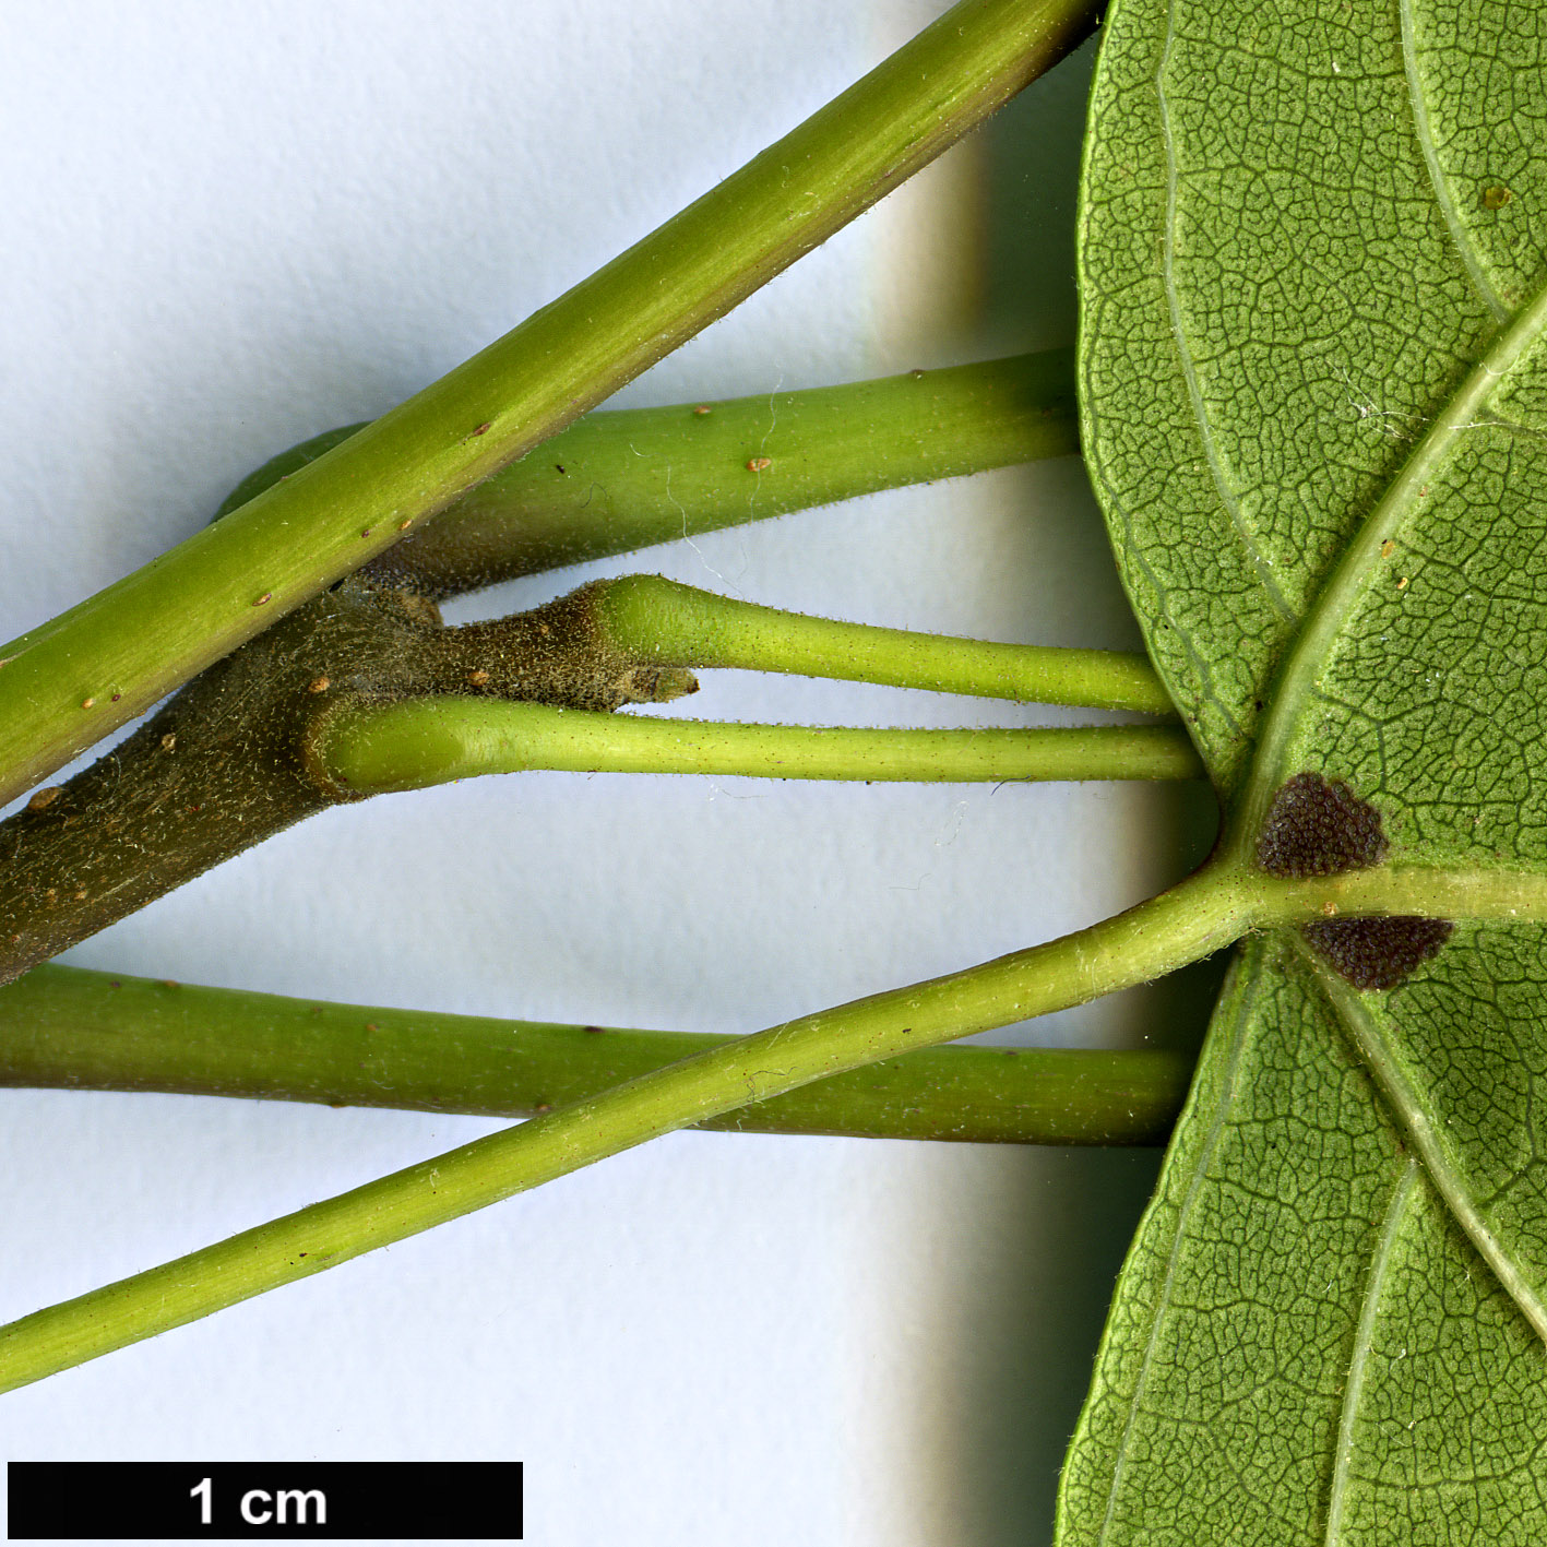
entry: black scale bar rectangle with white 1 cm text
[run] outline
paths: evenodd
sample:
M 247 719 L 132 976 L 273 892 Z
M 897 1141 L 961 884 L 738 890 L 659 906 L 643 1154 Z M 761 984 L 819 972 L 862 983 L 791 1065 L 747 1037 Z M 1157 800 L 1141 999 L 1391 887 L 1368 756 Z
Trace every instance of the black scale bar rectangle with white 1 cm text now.
M 19 1462 L 8 1541 L 520 1541 L 520 1462 Z

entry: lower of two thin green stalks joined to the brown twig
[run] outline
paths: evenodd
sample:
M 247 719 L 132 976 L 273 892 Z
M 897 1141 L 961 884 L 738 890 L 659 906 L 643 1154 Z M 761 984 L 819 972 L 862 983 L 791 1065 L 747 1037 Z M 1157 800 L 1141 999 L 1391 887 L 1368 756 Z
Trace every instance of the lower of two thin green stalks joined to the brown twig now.
M 1177 726 L 1067 730 L 868 730 L 650 719 L 480 698 L 340 705 L 308 749 L 322 787 L 425 789 L 478 774 L 719 774 L 749 778 L 1197 778 Z

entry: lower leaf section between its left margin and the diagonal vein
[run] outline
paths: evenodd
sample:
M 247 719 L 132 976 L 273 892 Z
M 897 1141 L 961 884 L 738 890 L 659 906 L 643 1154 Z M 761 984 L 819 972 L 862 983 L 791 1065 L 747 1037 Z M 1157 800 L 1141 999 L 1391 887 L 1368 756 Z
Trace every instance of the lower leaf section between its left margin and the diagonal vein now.
M 1284 951 L 1250 945 L 1221 1001 L 1123 1270 L 1066 1539 L 1539 1542 L 1541 1343 Z

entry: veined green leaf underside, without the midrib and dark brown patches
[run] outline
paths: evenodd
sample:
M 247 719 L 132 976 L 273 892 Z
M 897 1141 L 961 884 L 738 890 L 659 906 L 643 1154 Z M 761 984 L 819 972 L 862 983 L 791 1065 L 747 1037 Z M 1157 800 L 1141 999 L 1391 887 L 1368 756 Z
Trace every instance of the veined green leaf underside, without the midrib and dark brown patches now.
M 1118 0 L 1088 463 L 1250 842 L 1312 770 L 1391 857 L 1547 869 L 1547 25 Z M 1252 944 L 1123 1272 L 1061 1541 L 1547 1539 L 1547 928 L 1358 992 Z

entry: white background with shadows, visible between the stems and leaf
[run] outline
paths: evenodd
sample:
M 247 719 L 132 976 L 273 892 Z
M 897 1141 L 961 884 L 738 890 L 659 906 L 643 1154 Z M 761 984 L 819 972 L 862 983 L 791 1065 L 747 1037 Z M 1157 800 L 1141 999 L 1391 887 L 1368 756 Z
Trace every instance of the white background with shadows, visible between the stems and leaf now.
M 941 8 L 936 8 L 941 9 Z M 919 0 L 50 0 L 0 8 L 0 636 L 195 531 L 710 187 Z M 820 385 L 1074 336 L 1089 51 L 619 399 Z M 1132 648 L 1075 459 L 721 532 L 752 600 Z M 684 710 L 1038 724 L 724 674 Z M 1071 718 L 1071 716 L 1064 716 Z M 1149 894 L 1197 792 L 475 780 L 316 818 L 73 953 L 486 1015 L 755 1030 Z M 1001 1033 L 1196 1035 L 1197 985 Z M 0 1092 L 0 1318 L 497 1125 Z M 0 1398 L 6 1459 L 520 1459 L 582 1544 L 1047 1539 L 1145 1153 L 684 1134 Z

